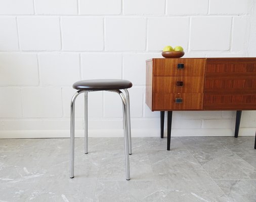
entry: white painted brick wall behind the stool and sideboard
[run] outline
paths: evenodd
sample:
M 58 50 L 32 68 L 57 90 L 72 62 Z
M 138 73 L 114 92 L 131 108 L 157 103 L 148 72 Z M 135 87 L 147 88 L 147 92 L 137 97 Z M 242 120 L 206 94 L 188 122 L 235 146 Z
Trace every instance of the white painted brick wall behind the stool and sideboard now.
M 160 112 L 145 104 L 145 60 L 161 58 L 165 45 L 182 45 L 185 58 L 255 57 L 255 4 L 0 1 L 0 138 L 69 136 L 72 83 L 96 78 L 131 80 L 133 136 L 159 136 Z M 83 94 L 76 101 L 76 135 L 83 136 Z M 117 93 L 89 92 L 88 107 L 89 136 L 123 136 Z M 174 112 L 172 135 L 232 135 L 235 114 Z M 240 134 L 254 135 L 255 125 L 256 113 L 243 111 Z

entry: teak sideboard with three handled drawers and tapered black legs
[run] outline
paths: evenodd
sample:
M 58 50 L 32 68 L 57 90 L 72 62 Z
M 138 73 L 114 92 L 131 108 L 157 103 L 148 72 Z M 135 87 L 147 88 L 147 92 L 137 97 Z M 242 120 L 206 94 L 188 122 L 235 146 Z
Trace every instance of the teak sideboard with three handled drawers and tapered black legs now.
M 167 112 L 167 150 L 173 111 L 256 110 L 256 58 L 156 58 L 146 61 L 146 104 Z M 256 148 L 256 137 L 255 146 Z

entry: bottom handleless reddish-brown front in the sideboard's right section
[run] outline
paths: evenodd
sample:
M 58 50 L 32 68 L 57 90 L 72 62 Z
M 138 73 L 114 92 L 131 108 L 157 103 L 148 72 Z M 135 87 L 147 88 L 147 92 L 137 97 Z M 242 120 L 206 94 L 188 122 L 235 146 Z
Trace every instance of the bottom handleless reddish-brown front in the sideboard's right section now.
M 255 110 L 256 94 L 216 95 L 204 93 L 204 110 Z

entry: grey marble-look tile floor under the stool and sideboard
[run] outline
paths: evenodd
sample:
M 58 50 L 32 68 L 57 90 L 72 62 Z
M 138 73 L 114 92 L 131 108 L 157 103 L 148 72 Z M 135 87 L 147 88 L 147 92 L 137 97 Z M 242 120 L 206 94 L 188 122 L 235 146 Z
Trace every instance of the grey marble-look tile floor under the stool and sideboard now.
M 0 139 L 0 201 L 255 202 L 254 137 L 132 138 L 125 180 L 123 138 Z

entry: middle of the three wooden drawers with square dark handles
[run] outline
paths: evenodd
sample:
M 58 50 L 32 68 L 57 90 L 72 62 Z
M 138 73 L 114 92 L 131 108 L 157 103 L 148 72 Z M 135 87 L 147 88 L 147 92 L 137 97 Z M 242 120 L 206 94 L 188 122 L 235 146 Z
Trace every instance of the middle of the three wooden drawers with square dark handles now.
M 154 76 L 153 92 L 203 92 L 203 76 Z

